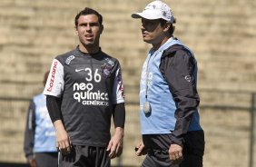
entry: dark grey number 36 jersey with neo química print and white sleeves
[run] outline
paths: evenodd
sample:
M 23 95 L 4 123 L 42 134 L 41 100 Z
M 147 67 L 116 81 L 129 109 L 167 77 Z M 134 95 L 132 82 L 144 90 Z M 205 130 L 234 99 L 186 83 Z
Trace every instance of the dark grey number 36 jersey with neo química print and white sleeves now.
M 71 142 L 106 146 L 113 104 L 124 103 L 121 67 L 104 54 L 84 54 L 78 47 L 54 58 L 45 95 L 62 99 L 61 113 Z

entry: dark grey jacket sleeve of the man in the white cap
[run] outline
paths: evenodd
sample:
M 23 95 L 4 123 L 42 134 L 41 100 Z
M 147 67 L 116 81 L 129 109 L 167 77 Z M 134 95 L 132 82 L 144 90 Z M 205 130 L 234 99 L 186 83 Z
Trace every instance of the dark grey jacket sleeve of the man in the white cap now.
M 176 123 L 172 132 L 172 143 L 182 145 L 183 134 L 187 133 L 192 113 L 200 103 L 196 89 L 196 61 L 189 51 L 178 50 L 162 58 L 162 76 L 166 79 L 174 102 Z

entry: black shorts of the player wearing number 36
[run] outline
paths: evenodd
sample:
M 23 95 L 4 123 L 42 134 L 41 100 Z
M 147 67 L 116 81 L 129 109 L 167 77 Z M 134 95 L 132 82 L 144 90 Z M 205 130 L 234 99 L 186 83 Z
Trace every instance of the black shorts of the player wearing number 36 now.
M 105 147 L 73 145 L 71 153 L 59 153 L 59 167 L 110 167 Z

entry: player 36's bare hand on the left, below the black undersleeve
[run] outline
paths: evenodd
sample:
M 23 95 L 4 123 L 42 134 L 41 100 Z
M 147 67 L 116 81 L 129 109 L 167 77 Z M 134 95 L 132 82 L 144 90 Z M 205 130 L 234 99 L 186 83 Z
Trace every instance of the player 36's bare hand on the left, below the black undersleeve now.
M 57 150 L 61 151 L 63 154 L 68 154 L 71 151 L 71 142 L 64 129 L 64 124 L 61 120 L 54 122 L 54 128 L 56 131 L 56 147 Z

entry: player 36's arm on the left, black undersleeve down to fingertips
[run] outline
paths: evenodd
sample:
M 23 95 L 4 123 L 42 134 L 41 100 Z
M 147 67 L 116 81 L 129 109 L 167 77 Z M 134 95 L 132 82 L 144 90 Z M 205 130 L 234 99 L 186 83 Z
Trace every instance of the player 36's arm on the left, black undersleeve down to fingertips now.
M 54 123 L 54 128 L 56 132 L 56 147 L 64 154 L 70 153 L 71 142 L 68 133 L 64 129 L 64 123 L 62 122 L 62 114 L 58 104 L 59 98 L 47 95 L 46 105 Z

